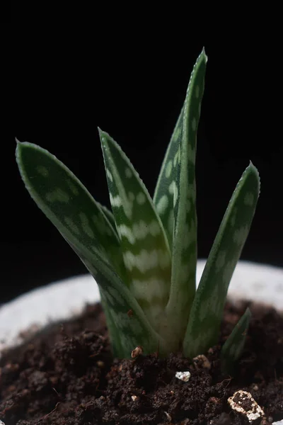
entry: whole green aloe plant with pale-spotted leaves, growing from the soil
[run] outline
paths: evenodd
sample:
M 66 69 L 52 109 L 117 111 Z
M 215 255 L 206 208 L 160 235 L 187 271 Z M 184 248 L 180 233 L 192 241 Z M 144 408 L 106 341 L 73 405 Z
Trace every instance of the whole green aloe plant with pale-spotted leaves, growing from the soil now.
M 112 212 L 47 150 L 28 142 L 16 147 L 30 196 L 98 283 L 113 353 L 120 358 L 128 358 L 137 346 L 161 356 L 182 350 L 192 358 L 219 338 L 226 293 L 253 220 L 260 181 L 250 163 L 196 290 L 195 152 L 206 64 L 203 50 L 153 198 L 120 146 L 100 129 Z M 247 310 L 226 341 L 222 354 L 227 364 L 241 353 L 249 318 Z

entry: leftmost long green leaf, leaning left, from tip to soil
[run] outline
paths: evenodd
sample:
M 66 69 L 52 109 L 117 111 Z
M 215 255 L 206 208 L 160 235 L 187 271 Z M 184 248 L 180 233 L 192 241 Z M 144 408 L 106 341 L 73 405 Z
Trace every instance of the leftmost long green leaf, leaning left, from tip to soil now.
M 120 242 L 90 193 L 62 162 L 37 145 L 18 143 L 16 158 L 30 196 L 96 278 L 103 304 L 108 305 L 114 351 L 129 357 L 137 345 L 144 346 L 145 353 L 159 345 L 164 352 L 163 340 L 120 278 L 126 276 Z

